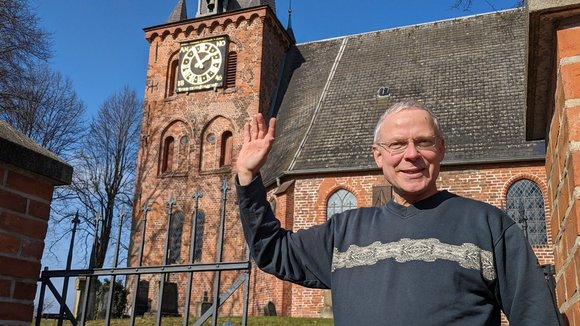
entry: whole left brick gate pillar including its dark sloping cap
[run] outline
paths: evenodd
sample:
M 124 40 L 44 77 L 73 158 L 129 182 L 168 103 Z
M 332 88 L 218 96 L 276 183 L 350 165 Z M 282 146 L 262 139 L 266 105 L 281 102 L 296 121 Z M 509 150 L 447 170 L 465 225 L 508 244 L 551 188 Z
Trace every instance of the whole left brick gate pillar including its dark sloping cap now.
M 72 167 L 0 121 L 0 325 L 30 325 L 55 186 Z

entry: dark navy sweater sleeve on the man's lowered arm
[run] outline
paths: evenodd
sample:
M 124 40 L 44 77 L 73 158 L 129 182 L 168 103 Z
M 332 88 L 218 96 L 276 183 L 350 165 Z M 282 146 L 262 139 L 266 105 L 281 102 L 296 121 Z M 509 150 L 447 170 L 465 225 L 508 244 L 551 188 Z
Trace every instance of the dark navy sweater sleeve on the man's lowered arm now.
M 515 223 L 511 222 L 497 241 L 494 254 L 498 280 L 496 296 L 510 325 L 560 325 L 542 268 L 523 231 Z

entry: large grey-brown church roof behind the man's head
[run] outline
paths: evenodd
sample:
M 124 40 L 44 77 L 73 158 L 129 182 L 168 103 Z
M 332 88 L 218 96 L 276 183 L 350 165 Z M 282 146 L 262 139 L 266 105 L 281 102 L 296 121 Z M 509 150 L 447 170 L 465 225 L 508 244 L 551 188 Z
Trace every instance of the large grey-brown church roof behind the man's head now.
M 278 95 L 265 182 L 285 173 L 375 169 L 373 129 L 419 100 L 446 138 L 443 164 L 543 159 L 524 136 L 526 15 L 516 9 L 298 44 Z M 377 97 L 380 87 L 390 96 Z

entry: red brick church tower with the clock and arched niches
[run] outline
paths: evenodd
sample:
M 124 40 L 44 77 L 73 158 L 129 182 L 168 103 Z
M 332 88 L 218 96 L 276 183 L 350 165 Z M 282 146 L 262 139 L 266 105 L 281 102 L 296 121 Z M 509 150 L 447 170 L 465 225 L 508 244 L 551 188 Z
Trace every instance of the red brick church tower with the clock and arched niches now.
M 167 23 L 144 31 L 150 47 L 129 264 L 139 264 L 145 212 L 143 266 L 188 264 L 192 231 L 195 263 L 213 263 L 221 188 L 224 180 L 233 188 L 243 125 L 253 114 L 271 112 L 293 38 L 276 18 L 274 0 L 200 0 L 193 19 L 180 0 Z M 197 187 L 202 197 L 192 230 Z M 246 255 L 234 197 L 230 191 L 223 261 Z M 223 291 L 237 276 L 222 275 Z M 136 310 L 157 309 L 160 277 L 141 277 Z M 176 313 L 182 313 L 186 279 L 166 276 L 179 289 Z M 194 284 L 192 309 L 193 303 L 212 300 L 213 273 L 196 273 Z M 224 309 L 239 313 L 241 301 L 235 296 L 230 301 Z

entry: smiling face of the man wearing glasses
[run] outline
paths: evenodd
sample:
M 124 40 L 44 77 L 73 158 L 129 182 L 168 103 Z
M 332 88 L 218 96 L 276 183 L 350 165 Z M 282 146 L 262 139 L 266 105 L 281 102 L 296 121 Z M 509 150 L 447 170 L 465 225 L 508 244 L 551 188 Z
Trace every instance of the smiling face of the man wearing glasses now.
M 397 203 L 408 205 L 437 193 L 445 144 L 428 112 L 409 109 L 388 115 L 377 143 L 382 145 L 373 145 L 375 162 L 393 186 Z

